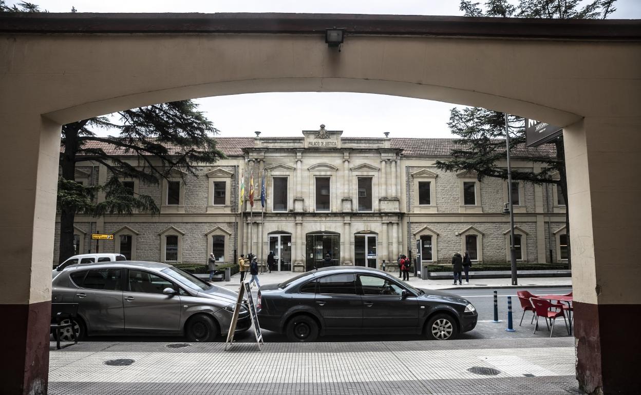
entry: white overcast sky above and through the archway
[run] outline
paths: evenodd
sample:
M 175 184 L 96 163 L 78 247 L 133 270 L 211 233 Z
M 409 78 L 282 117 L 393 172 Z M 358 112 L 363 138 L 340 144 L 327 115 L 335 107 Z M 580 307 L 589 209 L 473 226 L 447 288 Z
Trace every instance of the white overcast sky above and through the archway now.
M 484 2 L 483 0 L 478 0 Z M 462 15 L 459 0 L 29 0 L 49 12 L 299 12 Z M 516 3 L 513 0 L 512 3 Z M 6 4 L 19 1 L 8 0 Z M 619 0 L 612 19 L 641 19 L 641 0 Z M 220 136 L 301 136 L 342 130 L 343 136 L 451 137 L 453 104 L 365 93 L 254 93 L 197 99 Z M 342 109 L 336 111 L 336 109 Z

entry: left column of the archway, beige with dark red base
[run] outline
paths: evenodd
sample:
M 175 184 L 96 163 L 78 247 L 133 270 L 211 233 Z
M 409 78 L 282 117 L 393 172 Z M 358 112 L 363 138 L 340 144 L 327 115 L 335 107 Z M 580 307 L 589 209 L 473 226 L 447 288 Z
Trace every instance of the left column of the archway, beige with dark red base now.
M 0 172 L 0 315 L 12 333 L 0 369 L 7 394 L 47 392 L 60 127 L 26 109 L 0 116 L 11 168 Z

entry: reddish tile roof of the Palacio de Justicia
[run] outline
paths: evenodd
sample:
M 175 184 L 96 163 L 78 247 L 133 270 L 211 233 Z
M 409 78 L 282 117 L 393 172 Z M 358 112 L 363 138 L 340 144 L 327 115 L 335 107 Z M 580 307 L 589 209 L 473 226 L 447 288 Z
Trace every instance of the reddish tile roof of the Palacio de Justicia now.
M 381 138 L 360 138 L 360 137 L 343 137 L 343 140 L 383 140 Z M 254 147 L 253 137 L 217 137 L 216 146 L 227 156 L 242 155 L 242 149 Z M 278 140 L 270 137 L 262 140 Z M 302 138 L 301 138 L 302 140 Z M 391 138 L 390 146 L 395 149 L 403 149 L 404 156 L 449 156 L 452 149 L 460 147 L 454 143 L 453 138 Z M 88 141 L 85 145 L 87 148 L 101 148 L 109 155 L 126 155 L 125 150 L 121 147 L 115 147 L 102 141 Z M 176 146 L 168 145 L 169 152 L 176 152 Z M 62 152 L 61 147 L 61 152 Z M 129 153 L 133 154 L 133 153 Z M 556 156 L 556 149 L 553 144 L 544 144 L 536 148 L 526 149 L 519 146 L 512 151 L 515 157 L 529 156 Z

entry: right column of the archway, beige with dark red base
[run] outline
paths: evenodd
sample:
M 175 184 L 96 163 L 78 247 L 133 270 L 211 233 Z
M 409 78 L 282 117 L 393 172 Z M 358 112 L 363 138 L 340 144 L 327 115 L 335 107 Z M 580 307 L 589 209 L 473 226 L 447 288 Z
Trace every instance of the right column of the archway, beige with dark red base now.
M 579 385 L 637 386 L 641 337 L 641 117 L 585 118 L 563 131 Z

